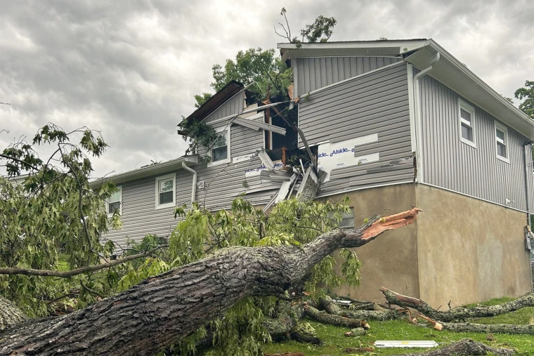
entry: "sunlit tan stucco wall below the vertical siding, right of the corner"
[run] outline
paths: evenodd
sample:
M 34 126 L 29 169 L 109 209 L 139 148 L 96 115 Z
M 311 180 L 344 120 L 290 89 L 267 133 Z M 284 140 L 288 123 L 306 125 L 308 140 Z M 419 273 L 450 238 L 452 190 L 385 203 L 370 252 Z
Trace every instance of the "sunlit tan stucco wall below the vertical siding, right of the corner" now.
M 437 308 L 530 291 L 525 213 L 427 185 L 415 193 L 420 298 Z

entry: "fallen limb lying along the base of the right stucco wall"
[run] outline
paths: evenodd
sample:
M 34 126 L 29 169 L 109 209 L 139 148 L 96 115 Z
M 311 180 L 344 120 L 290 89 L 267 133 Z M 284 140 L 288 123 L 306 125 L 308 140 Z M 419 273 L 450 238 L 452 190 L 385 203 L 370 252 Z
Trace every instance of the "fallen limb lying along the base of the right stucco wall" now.
M 427 317 L 439 320 L 441 322 L 451 322 L 457 319 L 466 319 L 468 317 L 493 317 L 495 315 L 513 312 L 521 308 L 534 307 L 534 294 L 528 294 L 515 301 L 490 306 L 478 306 L 475 308 L 457 307 L 446 312 L 441 312 L 432 308 L 419 298 L 403 296 L 394 291 L 382 287 L 380 289 L 389 304 L 398 305 L 404 308 L 414 308 L 422 312 Z

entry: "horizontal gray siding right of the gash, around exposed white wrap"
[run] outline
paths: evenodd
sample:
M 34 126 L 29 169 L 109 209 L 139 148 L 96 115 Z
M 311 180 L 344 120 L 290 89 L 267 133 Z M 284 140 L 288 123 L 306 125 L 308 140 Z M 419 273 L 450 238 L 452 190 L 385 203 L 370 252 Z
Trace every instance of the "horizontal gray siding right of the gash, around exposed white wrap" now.
M 413 180 L 410 164 L 367 173 L 392 159 L 411 157 L 408 72 L 405 64 L 345 81 L 312 93 L 299 106 L 299 127 L 311 145 L 378 134 L 377 143 L 357 147 L 358 155 L 379 152 L 377 162 L 334 169 L 318 196 Z M 300 143 L 301 145 L 301 143 Z

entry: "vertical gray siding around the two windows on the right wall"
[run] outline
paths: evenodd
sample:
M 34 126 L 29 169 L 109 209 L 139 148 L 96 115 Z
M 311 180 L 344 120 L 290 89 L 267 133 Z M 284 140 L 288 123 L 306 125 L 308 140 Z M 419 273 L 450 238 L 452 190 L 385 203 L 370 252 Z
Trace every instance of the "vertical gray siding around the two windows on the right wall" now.
M 426 75 L 420 81 L 424 183 L 502 205 L 514 200 L 513 208 L 526 211 L 522 145 L 528 139 L 436 79 Z M 475 108 L 476 148 L 460 141 L 458 98 Z M 508 128 L 510 163 L 496 157 L 495 121 Z M 528 181 L 532 197 L 530 173 Z

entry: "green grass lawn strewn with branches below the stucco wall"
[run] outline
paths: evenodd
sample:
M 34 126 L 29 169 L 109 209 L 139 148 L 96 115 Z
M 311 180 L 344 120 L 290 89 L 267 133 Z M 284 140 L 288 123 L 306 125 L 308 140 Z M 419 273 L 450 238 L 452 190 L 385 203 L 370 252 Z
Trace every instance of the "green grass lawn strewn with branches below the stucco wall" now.
M 495 305 L 511 301 L 512 298 L 496 298 L 481 305 Z M 474 305 L 470 305 L 474 306 Z M 510 312 L 495 317 L 469 319 L 469 322 L 479 324 L 528 324 L 534 319 L 534 308 L 523 308 L 516 312 Z M 475 341 L 481 341 L 493 347 L 508 346 L 516 349 L 519 355 L 534 355 L 534 336 L 533 335 L 509 335 L 494 334 L 494 341 L 488 341 L 488 334 L 476 333 L 454 333 L 450 331 L 437 331 L 431 327 L 423 328 L 408 323 L 408 320 L 391 320 L 384 322 L 369 322 L 371 329 L 367 335 L 358 338 L 346 338 L 345 329 L 342 327 L 333 327 L 332 325 L 320 324 L 313 320 L 307 320 L 315 329 L 315 336 L 323 341 L 323 345 L 313 346 L 294 341 L 284 343 L 271 343 L 263 348 L 265 353 L 277 352 L 304 352 L 306 356 L 319 355 L 351 355 L 345 352 L 346 348 L 372 347 L 377 340 L 434 340 L 440 346 L 448 345 L 462 338 L 472 338 Z M 410 352 L 420 352 L 424 349 L 406 349 L 406 348 L 376 348 L 375 352 L 360 353 L 360 355 L 396 355 Z

